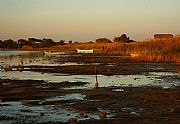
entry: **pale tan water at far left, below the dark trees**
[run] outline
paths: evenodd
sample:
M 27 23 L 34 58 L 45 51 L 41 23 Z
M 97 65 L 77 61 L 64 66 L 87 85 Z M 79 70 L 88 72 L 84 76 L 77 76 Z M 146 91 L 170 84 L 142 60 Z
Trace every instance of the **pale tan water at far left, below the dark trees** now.
M 43 65 L 43 66 L 66 66 L 82 65 L 74 62 L 57 62 L 57 57 L 69 57 L 68 55 L 46 57 L 39 51 L 0 51 L 1 65 Z

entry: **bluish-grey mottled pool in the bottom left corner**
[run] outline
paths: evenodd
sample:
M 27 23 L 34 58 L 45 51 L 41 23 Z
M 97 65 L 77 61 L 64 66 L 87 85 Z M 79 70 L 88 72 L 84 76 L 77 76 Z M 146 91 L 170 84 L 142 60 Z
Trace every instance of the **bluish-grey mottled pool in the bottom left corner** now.
M 1 115 L 15 117 L 16 121 L 4 121 L 7 123 L 43 123 L 48 121 L 67 122 L 69 118 L 77 117 L 79 112 L 58 105 L 24 106 L 21 102 L 1 103 Z M 44 116 L 40 114 L 44 113 Z M 86 113 L 87 118 L 79 117 L 78 120 L 99 119 L 98 113 Z M 22 122 L 21 122 L 22 121 Z

